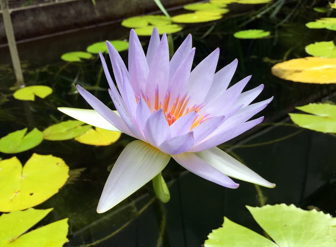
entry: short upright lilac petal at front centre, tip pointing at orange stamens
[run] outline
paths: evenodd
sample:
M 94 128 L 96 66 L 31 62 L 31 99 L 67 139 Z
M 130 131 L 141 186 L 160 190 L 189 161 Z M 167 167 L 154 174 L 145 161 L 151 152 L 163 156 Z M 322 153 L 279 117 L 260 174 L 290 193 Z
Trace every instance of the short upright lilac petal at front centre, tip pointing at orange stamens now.
M 163 109 L 152 113 L 145 124 L 145 138 L 154 147 L 159 147 L 165 140 L 170 139 L 170 128 Z

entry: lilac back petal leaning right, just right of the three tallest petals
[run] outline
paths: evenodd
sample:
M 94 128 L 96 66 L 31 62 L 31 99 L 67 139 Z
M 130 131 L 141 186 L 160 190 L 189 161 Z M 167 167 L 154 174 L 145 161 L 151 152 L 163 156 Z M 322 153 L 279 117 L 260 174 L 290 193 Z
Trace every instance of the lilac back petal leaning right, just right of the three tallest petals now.
M 186 55 L 190 52 L 192 48 L 192 37 L 189 34 L 185 40 L 182 42 L 180 47 L 176 50 L 173 57 L 169 63 L 169 81 L 173 78 L 176 69 L 180 66 L 181 62 L 184 60 Z

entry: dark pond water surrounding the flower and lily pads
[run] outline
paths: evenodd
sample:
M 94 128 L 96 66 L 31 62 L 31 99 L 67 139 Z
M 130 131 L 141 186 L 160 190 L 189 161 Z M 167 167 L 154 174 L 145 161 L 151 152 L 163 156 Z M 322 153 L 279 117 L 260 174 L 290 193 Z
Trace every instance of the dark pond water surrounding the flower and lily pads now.
M 171 199 L 168 203 L 155 200 L 149 183 L 108 212 L 97 214 L 96 206 L 109 171 L 133 138 L 123 134 L 109 146 L 90 146 L 75 140 L 44 140 L 37 147 L 15 155 L 23 164 L 33 153 L 61 157 L 70 167 L 71 176 L 57 194 L 35 207 L 54 208 L 39 225 L 68 217 L 69 242 L 66 246 L 177 247 L 202 246 L 212 229 L 222 225 L 223 216 L 262 234 L 245 205 L 286 203 L 303 209 L 315 206 L 335 216 L 335 136 L 299 128 L 288 116 L 288 113 L 299 112 L 295 106 L 335 102 L 335 87 L 333 84 L 285 81 L 271 74 L 274 64 L 309 56 L 304 50 L 306 45 L 333 40 L 335 31 L 305 27 L 305 23 L 325 17 L 325 13 L 313 10 L 325 3 L 289 1 L 271 7 L 272 4 L 249 7 L 236 4 L 222 19 L 186 24 L 171 37 L 176 49 L 189 33 L 192 34 L 196 47 L 194 66 L 219 47 L 217 69 L 235 58 L 239 60 L 232 83 L 252 75 L 245 90 L 262 83 L 265 87 L 257 100 L 274 96 L 266 109 L 254 117 L 265 116 L 260 125 L 219 147 L 277 184 L 275 188 L 259 188 L 239 181 L 238 189 L 227 189 L 184 170 L 171 159 L 162 174 L 169 181 Z M 247 29 L 267 30 L 271 35 L 246 40 L 233 36 Z M 57 107 L 90 109 L 78 94 L 76 84 L 113 108 L 107 81 L 101 75 L 99 57 L 65 62 L 60 56 L 69 51 L 85 50 L 98 41 L 127 40 L 128 34 L 128 28 L 112 23 L 20 43 L 18 50 L 26 85 L 47 85 L 53 89 L 45 99 L 24 103 L 11 97 L 16 89 L 14 73 L 7 47 L 0 48 L 4 54 L 0 64 L 0 136 L 25 127 L 42 131 L 56 122 L 72 119 Z M 149 37 L 140 37 L 140 40 L 144 47 L 148 46 Z M 126 61 L 127 51 L 120 54 Z M 0 157 L 12 156 L 1 153 Z

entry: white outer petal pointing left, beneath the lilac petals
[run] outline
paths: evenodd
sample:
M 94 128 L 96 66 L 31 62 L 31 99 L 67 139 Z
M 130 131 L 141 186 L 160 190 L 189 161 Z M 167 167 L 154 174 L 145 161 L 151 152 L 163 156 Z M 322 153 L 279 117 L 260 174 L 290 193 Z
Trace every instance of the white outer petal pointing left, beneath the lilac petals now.
M 69 107 L 58 107 L 57 109 L 79 121 L 87 123 L 88 125 L 92 125 L 94 127 L 98 127 L 104 130 L 121 132 L 95 110 L 77 109 Z

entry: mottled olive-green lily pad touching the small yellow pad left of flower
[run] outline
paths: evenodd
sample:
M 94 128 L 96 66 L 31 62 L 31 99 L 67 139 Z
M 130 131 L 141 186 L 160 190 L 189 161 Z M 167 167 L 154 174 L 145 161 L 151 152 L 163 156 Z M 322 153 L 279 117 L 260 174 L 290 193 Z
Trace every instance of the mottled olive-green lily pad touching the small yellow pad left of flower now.
M 68 120 L 49 126 L 43 131 L 43 138 L 50 141 L 70 140 L 83 135 L 91 129 L 90 125 L 78 120 Z

